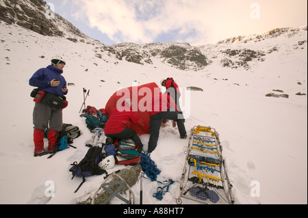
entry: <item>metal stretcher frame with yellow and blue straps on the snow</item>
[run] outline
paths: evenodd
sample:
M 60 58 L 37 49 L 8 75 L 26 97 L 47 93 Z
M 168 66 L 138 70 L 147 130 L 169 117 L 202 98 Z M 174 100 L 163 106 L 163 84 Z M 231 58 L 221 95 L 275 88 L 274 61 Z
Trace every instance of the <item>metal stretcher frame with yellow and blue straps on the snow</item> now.
M 196 140 L 194 141 L 194 139 L 206 139 L 206 141 L 198 141 L 198 144 L 206 144 L 206 146 L 211 147 L 211 149 L 216 149 L 218 152 L 209 152 L 205 155 L 205 153 L 203 153 L 205 150 L 201 149 L 196 149 Z M 214 143 L 214 144 L 213 144 Z M 194 146 L 194 147 L 192 147 Z M 205 151 L 207 152 L 207 151 Z M 207 176 L 205 174 L 201 174 L 198 173 L 196 171 L 194 171 L 194 175 L 196 175 L 196 177 L 199 176 L 199 179 L 201 180 L 201 178 L 207 178 L 207 180 L 209 180 L 208 178 L 214 178 L 213 180 L 215 180 L 216 182 L 213 183 L 217 183 L 219 181 L 220 185 L 214 185 L 211 184 L 211 182 L 207 182 L 206 184 L 203 182 L 201 183 L 193 183 L 188 181 L 189 176 L 192 175 L 192 171 L 191 171 L 191 166 L 192 168 L 196 169 L 196 161 L 194 163 L 190 162 L 190 160 L 192 160 L 192 156 L 194 156 L 194 154 L 196 156 L 198 156 L 197 154 L 201 154 L 204 155 L 203 158 L 207 158 L 207 156 L 214 156 L 216 160 L 220 161 L 220 165 L 219 165 L 219 171 L 216 170 L 215 172 L 215 176 Z M 210 155 L 209 155 L 210 154 Z M 210 159 L 211 157 L 209 157 Z M 217 165 L 216 165 L 217 166 Z M 214 171 L 212 171 L 214 172 Z M 219 173 L 217 173 L 219 172 Z M 190 194 L 188 194 L 188 192 L 190 191 L 190 189 L 192 189 L 193 187 L 203 187 L 205 189 L 208 189 L 207 187 L 211 187 L 210 189 L 212 191 L 215 191 L 217 193 L 217 195 L 219 195 L 220 197 L 218 197 L 218 201 L 214 202 L 211 200 L 204 200 L 202 199 L 202 197 L 196 197 L 196 196 L 192 196 Z M 223 191 L 218 191 L 218 187 L 219 189 L 223 189 Z M 186 157 L 185 157 L 185 163 L 183 166 L 183 172 L 181 175 L 181 184 L 179 187 L 179 196 L 177 198 L 177 204 L 181 204 L 182 200 L 181 198 L 185 198 L 188 200 L 193 200 L 196 202 L 201 202 L 203 204 L 234 204 L 235 200 L 233 197 L 233 193 L 231 191 L 232 185 L 230 183 L 229 177 L 227 175 L 227 170 L 226 167 L 224 165 L 224 159 L 222 156 L 222 146 L 220 144 L 220 139 L 219 139 L 219 134 L 218 132 L 214 129 L 211 128 L 210 126 L 194 126 L 191 130 L 190 130 L 190 139 L 188 142 L 188 149 L 186 150 Z

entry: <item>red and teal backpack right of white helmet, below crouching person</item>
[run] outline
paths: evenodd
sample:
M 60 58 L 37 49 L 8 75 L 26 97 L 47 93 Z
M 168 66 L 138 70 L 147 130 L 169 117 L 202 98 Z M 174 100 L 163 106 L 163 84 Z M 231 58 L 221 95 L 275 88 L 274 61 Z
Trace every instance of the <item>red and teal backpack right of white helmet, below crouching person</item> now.
M 116 139 L 116 163 L 120 165 L 135 165 L 140 159 L 140 153 L 136 150 L 138 145 L 131 139 Z

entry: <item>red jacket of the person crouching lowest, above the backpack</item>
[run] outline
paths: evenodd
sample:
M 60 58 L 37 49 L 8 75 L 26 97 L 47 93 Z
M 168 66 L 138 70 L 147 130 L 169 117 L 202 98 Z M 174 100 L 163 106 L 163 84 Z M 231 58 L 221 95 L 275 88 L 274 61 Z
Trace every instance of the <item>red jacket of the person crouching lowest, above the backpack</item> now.
M 136 115 L 133 111 L 118 111 L 114 108 L 112 114 L 105 124 L 104 132 L 105 134 L 116 134 L 129 128 L 131 121 L 139 124 L 143 128 L 146 128 L 146 124 L 142 119 Z

